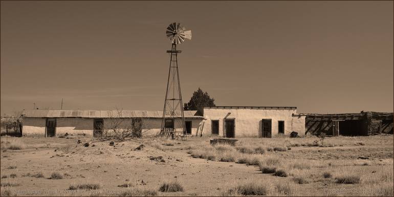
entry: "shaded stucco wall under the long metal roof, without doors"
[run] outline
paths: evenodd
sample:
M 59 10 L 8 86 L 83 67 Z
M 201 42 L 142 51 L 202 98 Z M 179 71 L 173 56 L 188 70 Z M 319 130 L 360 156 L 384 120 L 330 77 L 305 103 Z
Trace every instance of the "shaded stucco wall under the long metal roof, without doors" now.
M 188 120 L 188 119 L 186 119 Z M 104 127 L 108 125 L 110 120 L 103 119 Z M 200 129 L 201 121 L 198 119 L 192 119 L 191 132 L 195 135 L 197 130 Z M 149 119 L 144 118 L 144 129 L 143 135 L 158 134 L 161 127 L 161 119 Z M 132 123 L 131 118 L 123 119 L 121 124 L 123 127 Z M 93 135 L 93 118 L 56 118 L 56 136 L 68 134 L 85 134 L 88 136 Z M 175 121 L 175 128 L 180 129 L 182 127 L 181 122 Z M 23 134 L 24 135 L 39 135 L 45 136 L 46 129 L 46 118 L 24 118 L 23 122 Z

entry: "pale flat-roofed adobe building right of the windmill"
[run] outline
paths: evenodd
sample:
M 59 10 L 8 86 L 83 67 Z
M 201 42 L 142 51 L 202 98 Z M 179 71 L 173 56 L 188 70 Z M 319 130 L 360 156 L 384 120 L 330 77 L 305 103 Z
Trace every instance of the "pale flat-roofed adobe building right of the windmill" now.
M 214 106 L 204 107 L 204 135 L 219 137 L 260 137 L 305 133 L 305 116 L 297 107 Z

